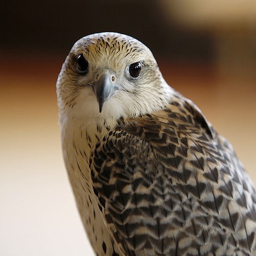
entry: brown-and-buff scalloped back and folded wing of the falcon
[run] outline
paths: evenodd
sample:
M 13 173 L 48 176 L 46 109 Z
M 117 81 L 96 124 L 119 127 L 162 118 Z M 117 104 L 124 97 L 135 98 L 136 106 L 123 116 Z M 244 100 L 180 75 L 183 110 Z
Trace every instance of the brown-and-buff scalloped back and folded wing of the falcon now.
M 253 185 L 188 100 L 121 119 L 96 145 L 91 176 L 125 255 L 256 253 Z

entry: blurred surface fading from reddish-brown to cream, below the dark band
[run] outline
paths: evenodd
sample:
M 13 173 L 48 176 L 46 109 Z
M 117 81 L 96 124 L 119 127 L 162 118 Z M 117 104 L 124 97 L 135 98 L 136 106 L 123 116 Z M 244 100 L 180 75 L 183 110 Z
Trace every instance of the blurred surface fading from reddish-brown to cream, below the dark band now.
M 0 59 L 0 255 L 91 254 L 61 155 L 55 81 L 62 60 Z M 218 77 L 207 65 L 160 67 L 229 139 L 256 183 L 255 79 Z

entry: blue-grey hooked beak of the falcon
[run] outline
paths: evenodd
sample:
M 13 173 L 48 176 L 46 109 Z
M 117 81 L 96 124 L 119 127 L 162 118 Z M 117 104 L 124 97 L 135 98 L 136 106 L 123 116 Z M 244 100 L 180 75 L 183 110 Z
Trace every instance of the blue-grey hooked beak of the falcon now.
M 98 101 L 99 112 L 102 110 L 103 103 L 108 97 L 113 95 L 117 89 L 118 86 L 111 80 L 111 75 L 108 73 L 104 73 L 98 80 L 93 82 L 93 90 Z

